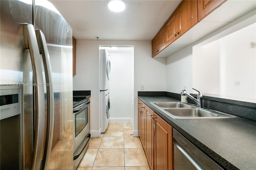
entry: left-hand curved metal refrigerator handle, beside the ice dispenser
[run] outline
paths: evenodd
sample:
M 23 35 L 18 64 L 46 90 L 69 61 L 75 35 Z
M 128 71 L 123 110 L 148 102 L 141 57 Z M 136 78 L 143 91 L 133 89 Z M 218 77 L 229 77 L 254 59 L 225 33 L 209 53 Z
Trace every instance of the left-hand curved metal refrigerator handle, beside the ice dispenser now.
M 24 45 L 30 51 L 33 80 L 34 80 L 34 100 L 35 100 L 35 129 L 34 129 L 34 153 L 32 160 L 32 170 L 39 170 L 42 159 L 44 145 L 44 80 L 42 74 L 40 53 L 36 41 L 36 33 L 32 24 L 24 24 Z

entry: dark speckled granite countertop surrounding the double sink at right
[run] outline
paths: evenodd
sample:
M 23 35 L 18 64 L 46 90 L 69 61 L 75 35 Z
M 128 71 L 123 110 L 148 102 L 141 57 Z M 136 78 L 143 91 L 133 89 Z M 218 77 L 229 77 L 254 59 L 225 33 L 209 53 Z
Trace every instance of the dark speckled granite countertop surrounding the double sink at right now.
M 242 117 L 173 119 L 150 102 L 180 100 L 167 96 L 138 98 L 223 168 L 256 168 L 256 121 Z

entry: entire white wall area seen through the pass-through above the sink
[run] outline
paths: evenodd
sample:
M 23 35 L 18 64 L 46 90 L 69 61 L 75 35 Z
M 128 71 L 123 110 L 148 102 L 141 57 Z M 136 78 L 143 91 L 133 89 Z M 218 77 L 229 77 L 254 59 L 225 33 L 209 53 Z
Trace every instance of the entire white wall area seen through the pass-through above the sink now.
M 193 85 L 203 93 L 256 98 L 256 23 L 193 47 Z M 202 82 L 203 81 L 203 82 Z M 240 86 L 235 86 L 239 81 Z M 248 92 L 248 90 L 250 92 Z

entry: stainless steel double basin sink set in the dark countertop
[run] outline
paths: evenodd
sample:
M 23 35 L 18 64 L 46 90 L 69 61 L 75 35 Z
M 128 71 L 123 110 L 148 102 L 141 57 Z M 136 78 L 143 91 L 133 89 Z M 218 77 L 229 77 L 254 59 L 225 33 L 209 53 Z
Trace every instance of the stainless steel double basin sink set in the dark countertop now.
M 203 109 L 182 102 L 150 102 L 174 119 L 216 119 L 233 118 L 234 115 L 212 109 Z

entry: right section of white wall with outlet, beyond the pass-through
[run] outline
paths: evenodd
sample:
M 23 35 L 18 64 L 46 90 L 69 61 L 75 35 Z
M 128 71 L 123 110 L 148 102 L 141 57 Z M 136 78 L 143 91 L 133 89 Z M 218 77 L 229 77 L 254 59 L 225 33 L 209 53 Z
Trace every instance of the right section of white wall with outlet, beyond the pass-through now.
M 221 39 L 222 55 L 226 56 L 226 80 L 221 80 L 226 82 L 224 95 L 256 98 L 256 49 L 250 42 L 256 42 L 255 23 Z M 235 86 L 235 81 L 240 86 Z

